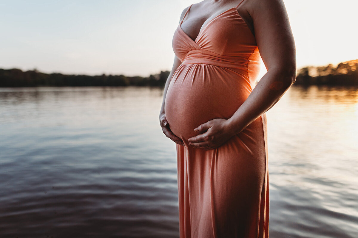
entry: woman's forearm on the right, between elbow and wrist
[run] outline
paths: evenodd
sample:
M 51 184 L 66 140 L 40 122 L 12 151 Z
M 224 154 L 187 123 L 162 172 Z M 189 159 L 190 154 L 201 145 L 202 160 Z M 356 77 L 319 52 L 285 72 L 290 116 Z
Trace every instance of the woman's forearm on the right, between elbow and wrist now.
M 240 133 L 246 126 L 274 106 L 295 79 L 296 74 L 274 69 L 267 71 L 245 102 L 228 119 L 228 126 L 234 135 Z

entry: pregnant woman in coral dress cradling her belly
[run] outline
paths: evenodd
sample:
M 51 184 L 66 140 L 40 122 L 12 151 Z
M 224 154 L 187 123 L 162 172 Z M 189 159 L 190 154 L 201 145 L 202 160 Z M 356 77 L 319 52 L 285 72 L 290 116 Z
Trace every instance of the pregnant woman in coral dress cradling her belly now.
M 282 0 L 204 0 L 173 36 L 160 124 L 176 142 L 180 238 L 269 236 L 266 111 L 296 79 Z M 267 73 L 255 86 L 260 57 Z

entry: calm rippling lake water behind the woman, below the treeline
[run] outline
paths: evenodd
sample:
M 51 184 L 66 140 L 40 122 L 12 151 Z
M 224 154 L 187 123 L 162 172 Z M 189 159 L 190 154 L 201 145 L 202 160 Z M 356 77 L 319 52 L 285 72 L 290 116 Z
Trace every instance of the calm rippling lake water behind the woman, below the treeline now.
M 161 88 L 0 88 L 1 237 L 179 237 Z M 267 113 L 270 237 L 358 237 L 358 88 Z

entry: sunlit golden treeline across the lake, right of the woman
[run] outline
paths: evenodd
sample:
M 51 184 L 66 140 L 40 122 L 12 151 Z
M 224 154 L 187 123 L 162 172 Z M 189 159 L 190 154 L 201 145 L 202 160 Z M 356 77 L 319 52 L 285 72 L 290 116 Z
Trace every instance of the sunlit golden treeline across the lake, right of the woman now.
M 339 63 L 337 67 L 308 66 L 297 71 L 294 84 L 302 85 L 358 85 L 358 60 Z

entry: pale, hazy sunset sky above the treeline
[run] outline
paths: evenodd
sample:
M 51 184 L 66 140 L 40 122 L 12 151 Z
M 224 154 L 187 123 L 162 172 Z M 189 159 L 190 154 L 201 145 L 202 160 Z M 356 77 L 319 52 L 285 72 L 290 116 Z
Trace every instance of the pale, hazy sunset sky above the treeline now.
M 0 0 L 0 68 L 127 76 L 171 70 L 180 14 L 197 2 Z M 358 59 L 358 1 L 284 3 L 297 69 Z

